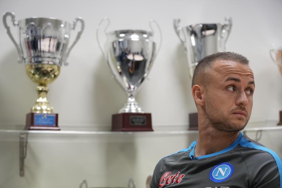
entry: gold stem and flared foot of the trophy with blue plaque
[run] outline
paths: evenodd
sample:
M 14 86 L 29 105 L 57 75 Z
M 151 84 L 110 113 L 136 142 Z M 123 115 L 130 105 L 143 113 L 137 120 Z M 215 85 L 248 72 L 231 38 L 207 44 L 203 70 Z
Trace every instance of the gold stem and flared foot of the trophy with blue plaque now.
M 49 105 L 47 100 L 47 93 L 49 88 L 45 84 L 41 84 L 36 87 L 38 98 L 36 99 L 35 105 L 31 108 L 33 113 L 53 113 L 53 107 Z

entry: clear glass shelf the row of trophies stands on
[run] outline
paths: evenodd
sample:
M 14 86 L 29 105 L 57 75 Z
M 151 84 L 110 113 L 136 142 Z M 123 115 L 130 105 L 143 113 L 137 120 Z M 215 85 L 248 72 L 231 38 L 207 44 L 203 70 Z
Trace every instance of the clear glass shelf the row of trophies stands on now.
M 282 126 L 276 127 L 254 127 L 242 130 L 246 135 L 255 131 L 282 130 Z M 180 131 L 145 131 L 145 132 L 112 132 L 112 131 L 77 131 L 77 130 L 15 130 L 0 129 L 0 141 L 19 141 L 21 134 L 27 134 L 31 142 L 95 142 L 97 139 L 105 142 L 114 141 L 134 141 L 136 137 L 174 137 L 198 135 L 198 130 L 180 130 Z M 117 139 L 117 140 L 115 140 Z

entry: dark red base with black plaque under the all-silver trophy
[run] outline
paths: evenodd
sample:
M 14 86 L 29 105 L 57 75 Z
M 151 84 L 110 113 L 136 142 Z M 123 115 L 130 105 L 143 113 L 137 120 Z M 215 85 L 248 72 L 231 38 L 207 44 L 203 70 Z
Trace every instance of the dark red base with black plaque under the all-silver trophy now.
M 112 131 L 153 131 L 150 113 L 120 113 L 112 115 Z

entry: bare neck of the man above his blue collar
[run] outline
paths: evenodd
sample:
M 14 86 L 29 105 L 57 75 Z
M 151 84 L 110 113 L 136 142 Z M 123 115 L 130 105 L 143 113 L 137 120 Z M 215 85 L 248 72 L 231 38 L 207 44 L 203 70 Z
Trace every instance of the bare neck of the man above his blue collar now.
M 214 128 L 199 129 L 199 138 L 195 148 L 195 156 L 208 155 L 224 150 L 239 136 L 238 132 L 221 132 Z

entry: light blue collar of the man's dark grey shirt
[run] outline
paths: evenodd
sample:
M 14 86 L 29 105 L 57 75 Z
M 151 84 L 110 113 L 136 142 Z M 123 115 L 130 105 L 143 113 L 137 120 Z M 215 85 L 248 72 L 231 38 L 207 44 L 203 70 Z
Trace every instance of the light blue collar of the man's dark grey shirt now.
M 192 160 L 196 160 L 196 159 L 204 159 L 204 158 L 208 158 L 208 157 L 212 157 L 212 156 L 215 156 L 215 155 L 220 155 L 220 154 L 223 154 L 223 153 L 226 153 L 230 150 L 233 150 L 240 142 L 241 138 L 243 136 L 243 133 L 240 132 L 239 133 L 239 136 L 236 138 L 236 140 L 228 147 L 226 147 L 224 150 L 221 150 L 219 152 L 216 152 L 216 153 L 211 153 L 211 154 L 208 154 L 208 155 L 202 155 L 202 156 L 199 156 L 197 158 L 195 158 L 195 147 L 196 147 L 196 144 L 197 144 L 197 140 L 192 142 L 191 146 L 190 147 L 193 147 L 192 151 L 189 153 L 189 157 L 192 159 Z M 193 156 L 193 157 L 192 157 Z

